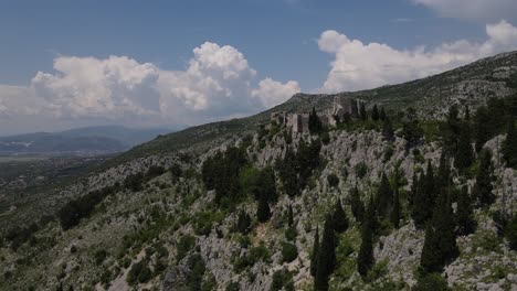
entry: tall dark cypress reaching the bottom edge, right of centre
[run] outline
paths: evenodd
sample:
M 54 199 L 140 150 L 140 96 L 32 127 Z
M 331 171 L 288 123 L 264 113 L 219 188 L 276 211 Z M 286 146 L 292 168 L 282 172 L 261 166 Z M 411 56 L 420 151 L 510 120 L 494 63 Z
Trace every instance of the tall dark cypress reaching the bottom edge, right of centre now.
M 314 290 L 328 290 L 328 278 L 336 267 L 336 235 L 334 234 L 333 218 L 327 215 L 325 219 L 324 235 L 318 250 L 318 266 Z

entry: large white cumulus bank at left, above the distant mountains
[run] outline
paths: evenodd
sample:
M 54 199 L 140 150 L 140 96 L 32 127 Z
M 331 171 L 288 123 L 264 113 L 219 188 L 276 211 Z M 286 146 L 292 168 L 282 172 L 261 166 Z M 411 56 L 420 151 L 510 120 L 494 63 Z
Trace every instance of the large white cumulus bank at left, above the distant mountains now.
M 0 85 L 0 118 L 13 126 L 22 118 L 197 125 L 257 112 L 299 91 L 294 80 L 271 78 L 252 87 L 256 72 L 244 55 L 211 42 L 193 50 L 184 71 L 127 56 L 59 56 L 53 68 L 27 87 Z

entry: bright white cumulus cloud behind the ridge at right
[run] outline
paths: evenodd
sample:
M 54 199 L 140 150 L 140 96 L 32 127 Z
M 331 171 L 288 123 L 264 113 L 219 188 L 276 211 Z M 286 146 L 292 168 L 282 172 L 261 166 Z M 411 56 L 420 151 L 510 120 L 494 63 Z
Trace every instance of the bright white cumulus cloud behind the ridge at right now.
M 460 40 L 426 50 L 397 50 L 362 43 L 337 31 L 321 33 L 318 45 L 334 55 L 321 91 L 359 90 L 437 74 L 481 57 L 517 48 L 517 28 L 506 21 L 486 25 L 485 42 Z

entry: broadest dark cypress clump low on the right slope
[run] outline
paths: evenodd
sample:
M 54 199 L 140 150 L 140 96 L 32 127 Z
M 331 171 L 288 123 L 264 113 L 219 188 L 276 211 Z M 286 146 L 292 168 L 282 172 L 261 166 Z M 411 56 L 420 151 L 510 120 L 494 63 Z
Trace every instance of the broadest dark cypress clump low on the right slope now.
M 433 218 L 425 229 L 420 266 L 424 272 L 442 272 L 443 267 L 458 255 L 454 216 L 449 192 L 442 191 L 436 201 Z

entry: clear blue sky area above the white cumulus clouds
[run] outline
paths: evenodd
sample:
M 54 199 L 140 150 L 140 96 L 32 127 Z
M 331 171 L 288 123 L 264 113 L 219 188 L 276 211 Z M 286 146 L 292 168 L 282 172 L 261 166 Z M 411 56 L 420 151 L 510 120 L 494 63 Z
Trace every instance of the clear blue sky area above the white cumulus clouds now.
M 127 55 L 182 69 L 193 47 L 213 41 L 236 47 L 261 76 L 295 78 L 310 90 L 331 61 L 316 42 L 325 30 L 405 48 L 482 39 L 483 26 L 408 0 L 2 1 L 0 80 L 25 85 L 59 54 Z

